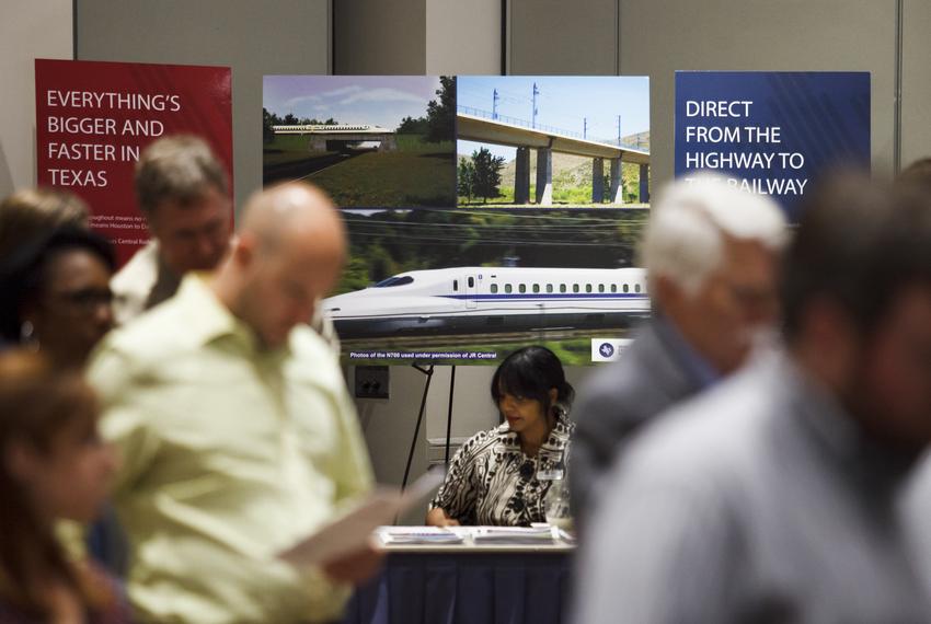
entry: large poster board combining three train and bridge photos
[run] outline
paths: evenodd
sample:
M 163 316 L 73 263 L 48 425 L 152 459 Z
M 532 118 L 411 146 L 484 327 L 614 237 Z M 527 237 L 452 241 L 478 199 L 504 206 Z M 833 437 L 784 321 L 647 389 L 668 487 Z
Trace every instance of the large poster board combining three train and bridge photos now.
M 648 315 L 646 78 L 266 77 L 263 102 L 266 183 L 348 226 L 323 302 L 348 362 L 591 363 Z

